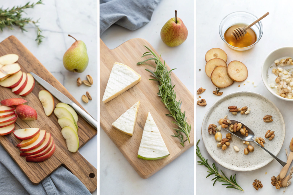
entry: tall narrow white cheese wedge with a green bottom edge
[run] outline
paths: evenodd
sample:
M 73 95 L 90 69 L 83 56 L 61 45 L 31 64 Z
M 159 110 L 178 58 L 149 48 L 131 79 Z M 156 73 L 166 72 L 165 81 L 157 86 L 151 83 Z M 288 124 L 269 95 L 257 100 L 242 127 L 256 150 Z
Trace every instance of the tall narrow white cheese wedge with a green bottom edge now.
M 160 134 L 160 131 L 153 119 L 151 113 L 147 115 L 147 121 L 142 132 L 142 141 L 140 141 L 137 158 L 143 160 L 158 160 L 166 158 L 170 153 Z

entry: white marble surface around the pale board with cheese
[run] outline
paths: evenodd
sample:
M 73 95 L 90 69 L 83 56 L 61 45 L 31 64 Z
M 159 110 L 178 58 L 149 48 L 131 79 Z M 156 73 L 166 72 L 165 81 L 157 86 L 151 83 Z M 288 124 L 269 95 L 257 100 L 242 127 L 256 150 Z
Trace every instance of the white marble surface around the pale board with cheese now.
M 160 37 L 161 28 L 178 11 L 188 29 L 187 40 L 177 47 L 168 47 Z M 194 93 L 194 17 L 193 0 L 178 4 L 175 0 L 161 1 L 154 11 L 150 23 L 130 31 L 113 25 L 102 34 L 101 39 L 114 49 L 132 38 L 146 39 L 171 68 L 185 86 Z M 184 103 L 184 100 L 183 100 Z M 142 179 L 122 153 L 100 128 L 100 194 L 194 194 L 194 147 L 188 149 L 159 172 Z

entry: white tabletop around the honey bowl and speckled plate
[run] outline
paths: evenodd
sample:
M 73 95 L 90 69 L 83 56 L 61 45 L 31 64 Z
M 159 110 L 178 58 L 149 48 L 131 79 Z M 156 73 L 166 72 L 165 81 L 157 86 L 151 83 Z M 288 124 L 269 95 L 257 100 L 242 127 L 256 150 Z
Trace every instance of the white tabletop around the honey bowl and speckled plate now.
M 196 2 L 196 29 L 197 29 L 197 41 L 196 41 L 196 89 L 203 87 L 206 91 L 201 94 L 202 98 L 206 99 L 207 106 L 200 107 L 197 106 L 197 140 L 201 139 L 201 124 L 205 113 L 210 108 L 210 106 L 220 99 L 222 96 L 227 95 L 231 92 L 237 91 L 251 91 L 262 94 L 263 96 L 270 99 L 276 106 L 280 109 L 286 125 L 286 138 L 282 149 L 277 157 L 286 161 L 285 148 L 289 150 L 289 143 L 293 137 L 293 132 L 291 131 L 291 115 L 289 114 L 293 108 L 293 104 L 287 101 L 281 101 L 277 97 L 273 96 L 265 88 L 260 75 L 261 65 L 265 57 L 274 49 L 282 46 L 292 46 L 293 40 L 288 39 L 285 34 L 293 30 L 292 25 L 288 25 L 291 21 L 292 15 L 289 12 L 282 11 L 284 7 L 292 7 L 293 2 L 291 1 L 197 1 Z M 234 11 L 247 11 L 257 17 L 262 16 L 266 12 L 269 12 L 266 18 L 263 19 L 263 37 L 260 39 L 256 46 L 248 51 L 234 51 L 230 49 L 222 41 L 219 35 L 219 24 L 221 20 L 229 13 Z M 281 14 L 282 13 L 282 14 Z M 286 26 L 286 32 L 280 30 L 280 27 Z M 214 47 L 219 47 L 223 49 L 228 56 L 227 63 L 232 60 L 238 60 L 243 62 L 248 68 L 248 78 L 250 83 L 244 81 L 240 83 L 234 83 L 232 86 L 222 89 L 222 96 L 215 96 L 212 91 L 215 90 L 215 86 L 211 83 L 209 77 L 205 74 L 205 53 Z M 198 69 L 202 70 L 199 71 Z M 257 87 L 253 87 L 252 81 L 255 82 Z M 246 84 L 245 86 L 243 84 Z M 240 87 L 238 87 L 240 85 Z M 198 97 L 198 96 L 197 96 Z M 276 135 L 277 136 L 277 135 Z M 202 156 L 209 159 L 209 164 L 212 165 L 214 160 L 207 153 L 203 142 L 199 144 Z M 231 146 L 230 146 L 231 147 Z M 239 151 L 240 152 L 240 151 Z M 243 151 L 241 151 L 242 153 Z M 223 157 L 224 158 L 224 157 Z M 199 158 L 196 157 L 198 161 Z M 223 168 L 216 163 L 216 166 L 223 170 L 227 177 L 236 174 L 236 180 L 239 185 L 245 190 L 246 194 L 282 194 L 284 188 L 281 190 L 276 190 L 275 187 L 271 185 L 271 177 L 277 176 L 282 169 L 282 166 L 273 160 L 271 163 L 263 168 L 250 172 L 235 172 Z M 267 172 L 267 175 L 265 174 Z M 197 194 L 216 194 L 221 191 L 221 194 L 243 194 L 241 191 L 236 189 L 225 188 L 221 186 L 220 182 L 216 182 L 213 185 L 212 176 L 205 178 L 207 173 L 207 168 L 202 165 L 196 165 L 196 192 Z M 252 183 L 255 179 L 260 180 L 263 183 L 263 188 L 256 191 Z M 289 186 L 285 194 L 292 193 L 293 186 Z

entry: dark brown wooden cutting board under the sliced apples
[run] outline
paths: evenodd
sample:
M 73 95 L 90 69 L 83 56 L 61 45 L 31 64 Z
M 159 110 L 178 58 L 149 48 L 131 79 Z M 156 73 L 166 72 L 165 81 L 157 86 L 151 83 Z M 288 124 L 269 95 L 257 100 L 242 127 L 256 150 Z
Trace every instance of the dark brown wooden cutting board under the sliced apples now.
M 25 73 L 32 71 L 42 77 L 42 79 L 46 80 L 82 108 L 65 87 L 63 87 L 63 85 L 40 63 L 40 61 L 38 61 L 38 59 L 35 58 L 35 56 L 33 56 L 33 54 L 30 53 L 30 51 L 28 51 L 28 49 L 14 36 L 10 36 L 0 43 L 0 56 L 11 53 L 19 56 L 17 63 L 21 66 L 21 71 Z M 39 184 L 57 168 L 64 166 L 78 177 L 87 189 L 93 193 L 97 189 L 97 169 L 86 161 L 78 151 L 76 153 L 68 151 L 65 139 L 61 134 L 61 127 L 58 124 L 58 118 L 54 113 L 49 117 L 46 116 L 44 108 L 38 98 L 39 91 L 43 89 L 44 88 L 38 84 L 38 82 L 35 82 L 33 92 L 23 97 L 14 94 L 11 92 L 11 89 L 0 86 L 0 100 L 8 98 L 23 98 L 27 101 L 27 105 L 37 111 L 37 120 L 23 121 L 18 118 L 16 121 L 16 129 L 39 127 L 41 130 L 50 132 L 56 146 L 53 156 L 47 161 L 41 163 L 26 162 L 25 157 L 19 156 L 21 152 L 16 147 L 21 140 L 17 139 L 13 133 L 6 136 L 0 136 L 0 144 L 33 184 Z M 55 105 L 60 102 L 56 98 L 54 98 L 54 101 Z M 77 125 L 79 148 L 81 148 L 97 134 L 97 130 L 89 125 L 81 116 L 78 116 Z

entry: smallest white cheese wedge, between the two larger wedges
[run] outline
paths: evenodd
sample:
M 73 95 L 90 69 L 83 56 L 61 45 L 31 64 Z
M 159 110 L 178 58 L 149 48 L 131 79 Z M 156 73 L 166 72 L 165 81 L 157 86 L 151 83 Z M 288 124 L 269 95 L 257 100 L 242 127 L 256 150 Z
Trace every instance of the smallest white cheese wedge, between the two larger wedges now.
M 134 131 L 134 125 L 137 117 L 137 111 L 139 107 L 139 101 L 135 103 L 131 108 L 129 108 L 124 114 L 122 114 L 115 122 L 112 123 L 112 126 L 125 133 L 132 136 Z

